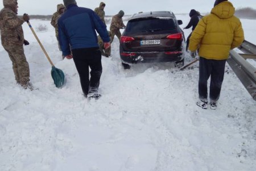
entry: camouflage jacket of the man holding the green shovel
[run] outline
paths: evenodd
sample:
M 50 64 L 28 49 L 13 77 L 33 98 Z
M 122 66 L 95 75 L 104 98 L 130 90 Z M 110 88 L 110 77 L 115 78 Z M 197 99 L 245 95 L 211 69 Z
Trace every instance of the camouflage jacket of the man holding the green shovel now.
M 23 23 L 24 20 L 18 18 L 16 13 L 8 7 L 5 7 L 0 11 L 0 30 L 3 46 L 23 45 Z

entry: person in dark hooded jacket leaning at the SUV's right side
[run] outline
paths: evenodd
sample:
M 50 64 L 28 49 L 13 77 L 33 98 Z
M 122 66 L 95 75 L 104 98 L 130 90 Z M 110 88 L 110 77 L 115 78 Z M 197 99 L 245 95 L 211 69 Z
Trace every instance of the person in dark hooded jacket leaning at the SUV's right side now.
M 188 26 L 184 27 L 183 29 L 188 29 L 190 27 L 192 27 L 192 32 L 193 30 L 195 30 L 199 20 L 202 18 L 202 16 L 199 14 L 199 12 L 197 12 L 196 10 L 192 9 L 189 12 L 189 16 L 190 16 L 190 21 L 188 23 Z M 191 32 L 191 34 L 192 34 Z M 191 37 L 191 34 L 189 34 L 188 38 L 187 38 L 187 45 L 186 45 L 186 51 L 188 51 L 188 46 L 189 46 L 189 38 Z

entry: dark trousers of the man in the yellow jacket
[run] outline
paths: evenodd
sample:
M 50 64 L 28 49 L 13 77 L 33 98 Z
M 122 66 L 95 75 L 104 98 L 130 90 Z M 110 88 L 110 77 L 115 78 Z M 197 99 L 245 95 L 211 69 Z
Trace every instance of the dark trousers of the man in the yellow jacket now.
M 199 61 L 199 98 L 207 101 L 207 81 L 210 77 L 210 102 L 220 98 L 221 85 L 224 79 L 226 60 L 208 60 L 200 57 Z

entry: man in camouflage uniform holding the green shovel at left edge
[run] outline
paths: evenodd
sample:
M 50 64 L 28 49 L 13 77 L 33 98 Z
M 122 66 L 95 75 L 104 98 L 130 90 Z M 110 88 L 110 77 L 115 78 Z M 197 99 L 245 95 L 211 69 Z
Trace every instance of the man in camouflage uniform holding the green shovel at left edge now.
M 0 11 L 0 30 L 3 48 L 9 54 L 13 62 L 13 71 L 15 80 L 24 89 L 31 89 L 30 84 L 30 68 L 24 55 L 24 45 L 28 45 L 28 41 L 24 40 L 22 24 L 30 18 L 27 14 L 23 18 L 18 18 L 18 2 L 17 0 L 3 0 L 4 8 Z

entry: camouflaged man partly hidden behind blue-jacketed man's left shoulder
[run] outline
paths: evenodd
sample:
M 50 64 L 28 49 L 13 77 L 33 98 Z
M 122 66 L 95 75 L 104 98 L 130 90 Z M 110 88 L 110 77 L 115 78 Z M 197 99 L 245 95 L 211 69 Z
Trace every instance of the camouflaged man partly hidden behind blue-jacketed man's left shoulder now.
M 52 20 L 51 20 L 51 24 L 52 26 L 55 28 L 55 35 L 58 41 L 58 45 L 59 45 L 59 49 L 60 49 L 60 44 L 59 44 L 59 31 L 58 31 L 58 19 L 60 18 L 61 14 L 63 14 L 65 9 L 65 6 L 60 3 L 57 5 L 57 11 L 52 15 Z M 61 51 L 61 49 L 60 49 Z

